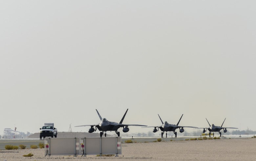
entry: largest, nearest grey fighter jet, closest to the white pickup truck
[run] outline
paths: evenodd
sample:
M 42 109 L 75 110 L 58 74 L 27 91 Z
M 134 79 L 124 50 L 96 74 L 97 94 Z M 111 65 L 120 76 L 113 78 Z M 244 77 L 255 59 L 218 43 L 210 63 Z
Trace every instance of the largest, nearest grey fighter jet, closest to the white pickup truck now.
M 146 125 L 136 125 L 136 124 L 122 124 L 123 123 L 123 119 L 128 111 L 128 109 L 126 110 L 123 118 L 121 119 L 121 121 L 119 123 L 117 122 L 111 122 L 111 121 L 108 121 L 106 118 L 102 118 L 98 112 L 98 110 L 96 109 L 97 113 L 98 113 L 98 116 L 101 120 L 100 123 L 98 124 L 93 124 L 93 125 L 80 125 L 80 126 L 75 126 L 75 127 L 81 127 L 81 126 L 91 126 L 91 128 L 89 129 L 89 133 L 93 133 L 95 132 L 97 129 L 99 131 L 102 131 L 100 132 L 100 137 L 102 137 L 102 135 L 107 132 L 107 131 L 115 131 L 117 136 L 120 136 L 120 132 L 117 132 L 117 129 L 119 129 L 120 127 L 123 128 L 123 132 L 124 133 L 127 133 L 130 129 L 128 128 L 128 126 L 146 126 Z M 95 126 L 95 129 L 94 129 L 94 126 Z M 105 137 L 106 137 L 106 133 L 105 133 Z

